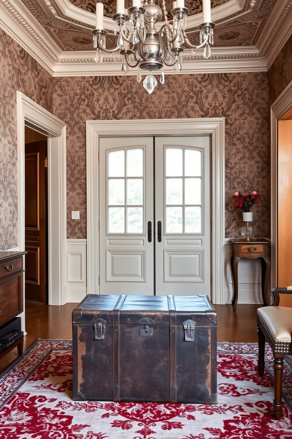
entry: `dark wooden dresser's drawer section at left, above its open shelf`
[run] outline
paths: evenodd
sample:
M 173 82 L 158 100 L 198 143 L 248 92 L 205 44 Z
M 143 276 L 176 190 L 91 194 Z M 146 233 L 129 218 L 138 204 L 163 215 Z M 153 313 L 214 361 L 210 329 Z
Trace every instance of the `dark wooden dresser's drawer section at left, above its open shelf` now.
M 23 311 L 23 255 L 0 252 L 0 325 Z

